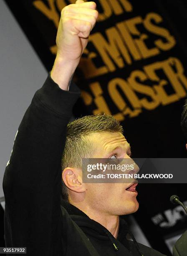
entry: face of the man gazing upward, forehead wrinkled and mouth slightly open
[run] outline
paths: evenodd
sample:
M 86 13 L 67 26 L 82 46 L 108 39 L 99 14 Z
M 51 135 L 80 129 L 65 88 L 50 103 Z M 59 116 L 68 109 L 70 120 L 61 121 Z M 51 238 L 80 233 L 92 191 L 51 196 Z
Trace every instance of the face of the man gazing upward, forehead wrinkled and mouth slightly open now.
M 120 133 L 93 133 L 89 140 L 96 146 L 93 158 L 129 158 L 131 149 Z M 132 160 L 133 161 L 133 160 Z M 135 172 L 138 172 L 138 166 Z M 86 183 L 86 203 L 108 215 L 126 215 L 136 212 L 139 203 L 137 192 L 126 190 L 130 183 Z

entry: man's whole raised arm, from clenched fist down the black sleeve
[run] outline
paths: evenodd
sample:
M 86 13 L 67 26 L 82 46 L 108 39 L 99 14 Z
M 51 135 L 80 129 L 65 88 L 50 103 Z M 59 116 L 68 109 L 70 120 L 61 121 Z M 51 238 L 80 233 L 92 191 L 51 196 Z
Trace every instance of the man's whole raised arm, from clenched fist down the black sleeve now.
M 61 156 L 80 94 L 70 81 L 96 22 L 95 8 L 79 0 L 62 10 L 51 76 L 21 121 L 5 169 L 5 243 L 27 247 L 27 255 L 57 255 L 61 246 Z

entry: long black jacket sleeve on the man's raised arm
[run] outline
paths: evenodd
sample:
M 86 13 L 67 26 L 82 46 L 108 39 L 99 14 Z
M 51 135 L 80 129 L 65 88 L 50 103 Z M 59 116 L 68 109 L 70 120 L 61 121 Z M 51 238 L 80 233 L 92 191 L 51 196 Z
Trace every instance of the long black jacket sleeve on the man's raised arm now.
M 55 255 L 61 244 L 61 156 L 79 95 L 73 82 L 61 90 L 49 75 L 18 128 L 3 179 L 5 243 L 27 255 Z

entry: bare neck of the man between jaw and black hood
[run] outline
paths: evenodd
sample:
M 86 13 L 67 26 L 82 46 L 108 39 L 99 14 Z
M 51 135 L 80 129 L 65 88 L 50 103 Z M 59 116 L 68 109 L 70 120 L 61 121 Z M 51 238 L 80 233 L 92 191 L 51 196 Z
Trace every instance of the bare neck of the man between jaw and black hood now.
M 119 216 L 109 215 L 99 210 L 91 209 L 89 206 L 83 207 L 82 205 L 74 202 L 70 203 L 84 212 L 90 219 L 100 223 L 107 230 L 109 230 L 115 238 L 117 238 L 119 232 Z

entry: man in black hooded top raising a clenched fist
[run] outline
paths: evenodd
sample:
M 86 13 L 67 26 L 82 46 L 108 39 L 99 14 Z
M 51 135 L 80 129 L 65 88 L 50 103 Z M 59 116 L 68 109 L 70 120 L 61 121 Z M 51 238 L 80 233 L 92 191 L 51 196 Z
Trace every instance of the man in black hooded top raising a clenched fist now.
M 88 116 L 66 131 L 80 95 L 71 79 L 97 17 L 94 2 L 63 8 L 53 69 L 23 117 L 5 170 L 5 243 L 27 247 L 27 255 L 162 255 L 126 239 L 119 216 L 138 209 L 136 184 L 82 181 L 82 158 L 130 158 L 119 123 Z

